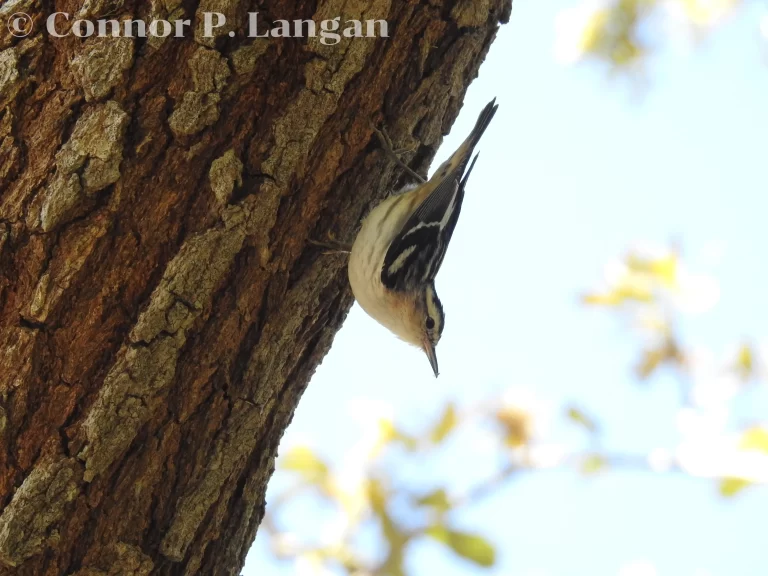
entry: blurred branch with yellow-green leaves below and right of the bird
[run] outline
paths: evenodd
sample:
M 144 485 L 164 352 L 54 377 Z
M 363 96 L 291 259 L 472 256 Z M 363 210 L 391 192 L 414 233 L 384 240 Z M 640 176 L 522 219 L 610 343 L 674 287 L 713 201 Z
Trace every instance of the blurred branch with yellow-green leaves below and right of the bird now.
M 270 549 L 280 558 L 309 562 L 321 572 L 333 566 L 350 576 L 404 576 L 410 547 L 429 539 L 488 567 L 495 562 L 492 543 L 459 529 L 456 518 L 523 473 L 572 470 L 587 477 L 619 471 L 673 473 L 714 479 L 724 497 L 768 483 L 768 426 L 741 426 L 734 435 L 726 432 L 723 418 L 730 397 L 764 379 L 765 367 L 753 345 L 742 344 L 722 365 L 702 364 L 702 358 L 686 349 L 673 329 L 680 323 L 681 311 L 692 302 L 699 310 L 710 309 L 719 291 L 711 279 L 690 273 L 679 254 L 674 247 L 630 252 L 607 267 L 602 288 L 583 297 L 589 306 L 630 318 L 642 335 L 645 346 L 636 369 L 640 380 L 650 380 L 664 367 L 674 369 L 684 392 L 678 413 L 683 438 L 674 450 L 646 454 L 604 450 L 603 426 L 575 404 L 563 407 L 562 415 L 586 433 L 587 447 L 546 443 L 539 426 L 545 418 L 542 406 L 525 391 L 507 391 L 473 406 L 447 402 L 417 434 L 406 433 L 391 417 L 370 417 L 365 419 L 368 429 L 351 451 L 352 468 L 345 461 L 342 470 L 335 470 L 303 446 L 284 455 L 281 468 L 295 475 L 297 482 L 270 502 L 262 532 L 270 539 Z M 504 459 L 488 477 L 459 494 L 452 494 L 448 479 L 426 493 L 395 481 L 398 466 L 388 459 L 393 451 L 421 462 L 444 449 L 455 435 L 478 426 L 491 431 L 494 448 Z M 584 439 L 579 438 L 582 443 Z M 335 509 L 331 523 L 317 531 L 317 541 L 280 531 L 275 517 L 313 491 Z M 372 530 L 384 553 L 366 557 L 360 538 Z

